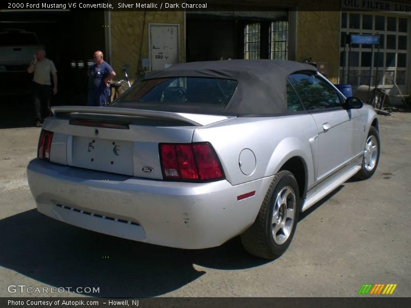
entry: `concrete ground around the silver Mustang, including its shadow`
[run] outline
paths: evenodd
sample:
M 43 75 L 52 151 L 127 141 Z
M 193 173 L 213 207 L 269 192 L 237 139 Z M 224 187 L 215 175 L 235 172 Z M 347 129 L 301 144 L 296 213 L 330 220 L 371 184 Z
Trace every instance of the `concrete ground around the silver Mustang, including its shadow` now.
M 310 208 L 288 251 L 270 262 L 249 256 L 238 238 L 185 251 L 40 215 L 26 181 L 40 128 L 15 110 L 0 124 L 8 127 L 0 129 L 0 297 L 352 297 L 363 283 L 396 283 L 392 296 L 411 296 L 411 113 L 379 118 L 376 174 Z M 86 287 L 99 293 L 81 293 Z

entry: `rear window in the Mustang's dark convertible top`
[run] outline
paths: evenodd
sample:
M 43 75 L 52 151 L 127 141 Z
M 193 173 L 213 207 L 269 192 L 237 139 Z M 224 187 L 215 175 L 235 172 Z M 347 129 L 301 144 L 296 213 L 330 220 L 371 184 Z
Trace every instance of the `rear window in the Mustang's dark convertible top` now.
M 235 80 L 205 77 L 148 79 L 125 93 L 114 106 L 173 112 L 222 112 L 237 84 Z

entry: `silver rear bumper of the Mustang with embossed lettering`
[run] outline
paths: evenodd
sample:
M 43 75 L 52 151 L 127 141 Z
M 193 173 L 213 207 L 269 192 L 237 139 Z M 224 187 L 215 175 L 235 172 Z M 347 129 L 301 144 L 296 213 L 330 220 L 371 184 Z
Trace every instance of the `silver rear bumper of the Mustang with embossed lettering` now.
M 255 220 L 272 178 L 232 186 L 221 180 L 147 180 L 32 160 L 27 167 L 40 213 L 96 232 L 179 248 L 218 246 Z M 237 200 L 247 192 L 253 197 Z

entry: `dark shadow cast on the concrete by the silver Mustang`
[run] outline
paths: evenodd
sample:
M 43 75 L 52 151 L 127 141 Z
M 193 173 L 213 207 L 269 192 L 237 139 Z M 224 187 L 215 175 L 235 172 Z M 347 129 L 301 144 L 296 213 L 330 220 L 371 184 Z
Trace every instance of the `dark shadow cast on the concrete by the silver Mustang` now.
M 77 228 L 35 209 L 0 220 L 0 234 L 0 266 L 39 281 L 33 287 L 99 287 L 87 294 L 96 297 L 163 295 L 206 273 L 193 264 L 228 270 L 270 262 L 246 253 L 238 237 L 216 248 L 168 248 Z

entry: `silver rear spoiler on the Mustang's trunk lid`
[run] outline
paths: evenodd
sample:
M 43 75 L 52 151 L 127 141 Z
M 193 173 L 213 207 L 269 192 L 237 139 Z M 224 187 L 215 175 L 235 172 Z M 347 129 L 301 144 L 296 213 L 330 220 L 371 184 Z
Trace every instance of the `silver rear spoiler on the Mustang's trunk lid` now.
M 210 114 L 195 114 L 195 113 L 177 113 L 157 110 L 143 110 L 132 108 L 116 108 L 116 107 L 96 107 L 96 106 L 54 106 L 51 107 L 51 112 L 54 117 L 80 117 L 83 115 L 113 115 L 116 119 L 141 119 L 141 118 L 157 118 L 181 121 L 193 126 L 204 126 L 215 122 L 227 120 L 234 117 L 225 117 L 223 115 Z

